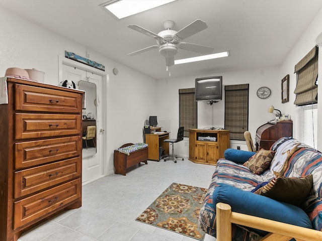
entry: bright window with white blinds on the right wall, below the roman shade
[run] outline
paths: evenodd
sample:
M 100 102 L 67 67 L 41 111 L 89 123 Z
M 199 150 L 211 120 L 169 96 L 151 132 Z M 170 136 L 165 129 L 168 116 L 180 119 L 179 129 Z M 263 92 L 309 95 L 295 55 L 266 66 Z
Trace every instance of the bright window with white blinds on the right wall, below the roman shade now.
M 296 130 L 298 139 L 314 149 L 317 147 L 317 104 L 296 107 Z

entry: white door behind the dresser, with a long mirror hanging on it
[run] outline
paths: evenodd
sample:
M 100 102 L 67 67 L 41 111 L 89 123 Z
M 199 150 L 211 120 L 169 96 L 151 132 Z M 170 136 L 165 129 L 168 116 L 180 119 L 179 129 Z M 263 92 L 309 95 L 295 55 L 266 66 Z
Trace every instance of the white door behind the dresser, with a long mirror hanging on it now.
M 86 101 L 86 109 L 83 113 L 91 112 L 96 120 L 96 150 L 95 148 L 83 148 L 83 175 L 82 182 L 89 182 L 103 176 L 103 76 L 95 74 L 77 67 L 62 65 L 62 79 L 71 80 L 75 83 L 76 89 L 78 82 L 83 80 L 96 85 L 96 93 L 87 93 L 86 96 L 95 96 L 95 101 Z M 82 82 L 84 83 L 84 82 Z M 94 86 L 94 85 L 93 85 Z M 95 98 L 95 97 L 94 97 Z M 96 110 L 95 110 L 96 106 Z M 91 141 L 89 141 L 90 143 Z M 93 151 L 94 149 L 94 151 Z

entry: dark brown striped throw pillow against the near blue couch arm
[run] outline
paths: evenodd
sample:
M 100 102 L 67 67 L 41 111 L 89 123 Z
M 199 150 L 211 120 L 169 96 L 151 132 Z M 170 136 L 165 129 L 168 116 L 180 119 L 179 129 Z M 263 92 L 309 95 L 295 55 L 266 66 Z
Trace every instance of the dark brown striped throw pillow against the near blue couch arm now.
M 312 174 L 299 178 L 277 177 L 273 178 L 267 185 L 255 191 L 255 193 L 277 201 L 300 206 L 310 193 L 312 185 Z

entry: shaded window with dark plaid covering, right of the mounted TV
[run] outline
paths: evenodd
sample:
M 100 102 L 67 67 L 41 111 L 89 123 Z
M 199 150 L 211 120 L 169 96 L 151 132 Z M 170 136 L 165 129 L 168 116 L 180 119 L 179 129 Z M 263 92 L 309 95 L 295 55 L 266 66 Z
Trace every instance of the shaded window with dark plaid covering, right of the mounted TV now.
M 245 141 L 248 130 L 249 84 L 225 86 L 225 129 L 230 131 L 230 140 Z

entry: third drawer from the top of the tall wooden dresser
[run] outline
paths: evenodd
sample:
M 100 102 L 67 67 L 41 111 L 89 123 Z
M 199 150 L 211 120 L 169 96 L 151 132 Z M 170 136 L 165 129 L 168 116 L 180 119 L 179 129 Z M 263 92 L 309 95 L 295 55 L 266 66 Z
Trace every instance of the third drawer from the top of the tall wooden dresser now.
M 76 157 L 82 152 L 82 137 L 64 137 L 15 144 L 15 169 Z

